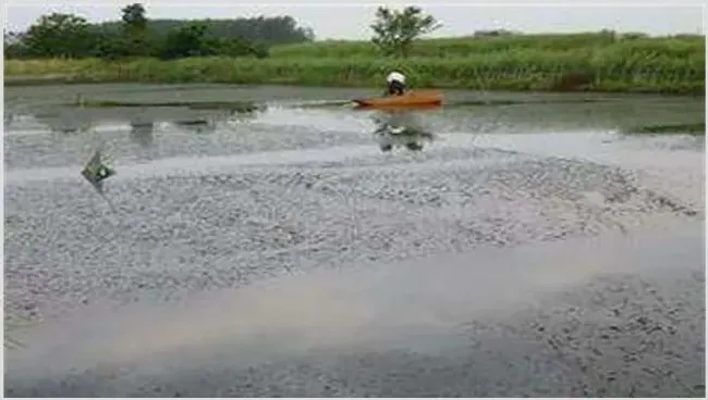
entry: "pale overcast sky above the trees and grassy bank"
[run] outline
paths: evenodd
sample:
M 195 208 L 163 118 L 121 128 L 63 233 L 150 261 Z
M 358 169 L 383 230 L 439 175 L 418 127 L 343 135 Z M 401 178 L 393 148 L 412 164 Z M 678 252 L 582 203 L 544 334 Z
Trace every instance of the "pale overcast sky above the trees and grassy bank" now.
M 118 20 L 120 9 L 133 1 L 96 0 L 32 2 L 10 1 L 7 4 L 5 29 L 24 30 L 40 15 L 51 12 L 75 13 L 90 22 Z M 229 18 L 258 15 L 291 15 L 300 25 L 315 30 L 321 39 L 368 39 L 371 36 L 369 24 L 380 4 L 401 8 L 402 2 L 347 3 L 332 1 L 326 3 L 305 3 L 279 1 L 224 4 L 217 1 L 180 2 L 143 1 L 150 18 Z M 68 5 L 72 4 L 72 5 Z M 267 4 L 267 5 L 266 5 Z M 413 4 L 413 3 L 408 3 Z M 649 1 L 633 3 L 619 1 L 596 3 L 588 1 L 556 0 L 545 5 L 533 2 L 516 2 L 510 5 L 502 1 L 474 5 L 474 3 L 415 3 L 442 23 L 442 28 L 430 37 L 472 35 L 475 30 L 509 29 L 525 33 L 596 32 L 603 28 L 618 32 L 643 32 L 650 35 L 703 34 L 704 9 L 700 3 L 674 1 L 673 5 L 654 5 Z M 642 4 L 642 5 L 638 5 Z

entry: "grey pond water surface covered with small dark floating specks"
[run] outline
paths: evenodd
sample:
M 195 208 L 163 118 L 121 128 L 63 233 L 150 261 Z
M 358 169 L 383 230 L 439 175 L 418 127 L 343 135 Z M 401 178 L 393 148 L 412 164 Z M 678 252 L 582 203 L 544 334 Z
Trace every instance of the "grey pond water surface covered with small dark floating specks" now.
M 362 95 L 7 88 L 5 392 L 704 396 L 703 99 Z

